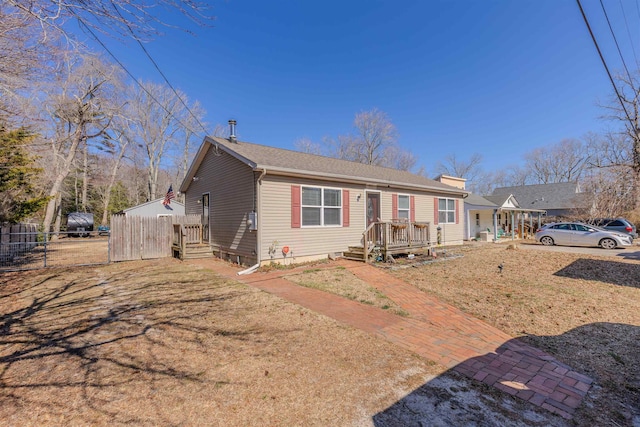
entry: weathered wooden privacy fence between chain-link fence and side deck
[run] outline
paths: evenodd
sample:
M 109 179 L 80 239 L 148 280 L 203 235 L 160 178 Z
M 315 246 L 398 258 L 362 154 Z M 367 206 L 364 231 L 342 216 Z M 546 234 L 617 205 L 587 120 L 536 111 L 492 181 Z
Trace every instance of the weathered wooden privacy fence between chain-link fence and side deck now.
M 200 215 L 111 217 L 111 261 L 172 256 L 173 224 L 200 224 Z

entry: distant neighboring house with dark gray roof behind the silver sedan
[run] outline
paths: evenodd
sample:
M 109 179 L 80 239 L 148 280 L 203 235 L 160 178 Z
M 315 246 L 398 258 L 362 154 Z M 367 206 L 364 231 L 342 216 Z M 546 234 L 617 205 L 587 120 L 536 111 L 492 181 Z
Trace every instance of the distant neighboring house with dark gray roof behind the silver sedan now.
M 575 215 L 584 203 L 584 193 L 577 182 L 501 187 L 493 191 L 494 196 L 508 194 L 515 196 L 522 208 L 544 209 L 550 217 Z

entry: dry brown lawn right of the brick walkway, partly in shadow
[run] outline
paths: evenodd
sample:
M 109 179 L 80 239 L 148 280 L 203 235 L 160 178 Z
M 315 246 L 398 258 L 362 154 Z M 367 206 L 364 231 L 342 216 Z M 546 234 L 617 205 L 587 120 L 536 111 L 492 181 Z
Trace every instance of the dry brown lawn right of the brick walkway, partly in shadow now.
M 463 256 L 391 270 L 594 378 L 578 425 L 640 423 L 639 261 L 524 245 L 447 252 Z

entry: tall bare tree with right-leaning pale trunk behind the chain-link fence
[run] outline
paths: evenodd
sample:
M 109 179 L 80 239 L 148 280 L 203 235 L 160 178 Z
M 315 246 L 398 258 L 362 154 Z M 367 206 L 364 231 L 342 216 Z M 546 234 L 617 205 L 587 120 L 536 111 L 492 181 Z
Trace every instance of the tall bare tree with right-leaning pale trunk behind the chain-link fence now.
M 119 81 L 115 67 L 89 55 L 73 55 L 67 60 L 60 79 L 49 87 L 46 111 L 52 125 L 49 186 L 44 228 L 48 230 L 56 213 L 56 202 L 64 179 L 69 175 L 78 150 L 89 140 L 103 134 L 116 106 L 110 104 L 114 82 Z M 59 87 L 54 92 L 54 87 Z

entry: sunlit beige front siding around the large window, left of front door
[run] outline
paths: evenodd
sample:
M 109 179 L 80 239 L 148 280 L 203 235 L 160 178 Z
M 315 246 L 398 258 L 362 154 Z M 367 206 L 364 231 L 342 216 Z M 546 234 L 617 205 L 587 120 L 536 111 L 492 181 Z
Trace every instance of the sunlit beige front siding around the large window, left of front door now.
M 349 227 L 291 227 L 291 186 L 330 187 L 349 190 Z M 358 200 L 358 194 L 361 194 Z M 342 203 L 344 208 L 344 201 Z M 260 187 L 259 227 L 262 239 L 261 261 L 284 258 L 282 248 L 289 247 L 287 259 L 326 256 L 359 245 L 365 229 L 364 189 L 351 184 L 321 180 L 292 179 L 267 175 Z M 269 247 L 275 252 L 270 254 Z

